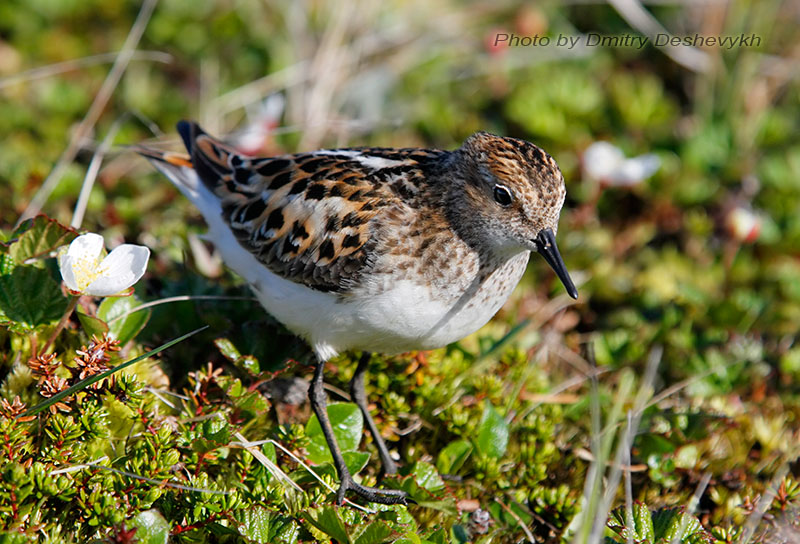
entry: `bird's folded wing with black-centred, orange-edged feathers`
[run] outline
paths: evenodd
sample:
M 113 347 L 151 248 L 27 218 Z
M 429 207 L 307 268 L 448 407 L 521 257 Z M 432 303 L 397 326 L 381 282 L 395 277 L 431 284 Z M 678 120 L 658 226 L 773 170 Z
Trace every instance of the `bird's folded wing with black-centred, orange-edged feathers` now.
M 354 148 L 251 158 L 194 123 L 178 130 L 190 156 L 167 161 L 190 162 L 219 198 L 237 240 L 260 262 L 320 291 L 358 284 L 379 251 L 382 221 L 414 200 L 424 165 L 446 153 Z

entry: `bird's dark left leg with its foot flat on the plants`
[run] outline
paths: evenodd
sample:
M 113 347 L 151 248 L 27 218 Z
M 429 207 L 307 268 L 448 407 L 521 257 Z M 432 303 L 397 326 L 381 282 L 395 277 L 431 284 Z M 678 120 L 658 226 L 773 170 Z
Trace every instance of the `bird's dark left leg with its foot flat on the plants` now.
M 314 369 L 314 380 L 311 382 L 311 388 L 308 392 L 309 400 L 311 401 L 311 409 L 317 415 L 322 434 L 325 435 L 325 441 L 328 443 L 328 448 L 331 450 L 333 457 L 333 464 L 336 466 L 336 471 L 339 473 L 341 484 L 339 491 L 336 493 L 336 504 L 341 505 L 344 502 L 344 495 L 347 491 L 353 491 L 360 497 L 369 502 L 377 502 L 381 504 L 407 504 L 408 495 L 405 491 L 394 489 L 377 489 L 356 483 L 344 463 L 342 450 L 339 449 L 339 444 L 336 442 L 336 437 L 333 434 L 333 427 L 331 420 L 328 418 L 328 395 L 325 393 L 325 386 L 322 382 L 322 371 L 325 363 L 320 361 Z

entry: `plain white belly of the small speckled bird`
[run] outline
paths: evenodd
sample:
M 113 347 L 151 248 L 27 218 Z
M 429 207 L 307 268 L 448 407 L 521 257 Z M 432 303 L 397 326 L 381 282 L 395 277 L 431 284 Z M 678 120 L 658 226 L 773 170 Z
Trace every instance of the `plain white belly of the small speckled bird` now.
M 226 261 L 231 262 L 227 257 Z M 514 257 L 476 286 L 474 293 L 448 301 L 409 280 L 378 295 L 339 296 L 287 281 L 260 264 L 247 269 L 258 270 L 253 274 L 257 277 L 248 280 L 267 311 L 326 360 L 348 350 L 394 354 L 460 340 L 497 313 L 519 282 L 527 261 L 527 253 Z

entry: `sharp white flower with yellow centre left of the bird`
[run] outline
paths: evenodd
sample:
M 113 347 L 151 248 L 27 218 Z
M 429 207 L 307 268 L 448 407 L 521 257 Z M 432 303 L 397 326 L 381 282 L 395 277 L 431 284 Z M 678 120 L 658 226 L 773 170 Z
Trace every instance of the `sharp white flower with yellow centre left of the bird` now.
M 59 266 L 64 283 L 73 294 L 108 297 L 126 294 L 144 274 L 150 250 L 123 244 L 103 259 L 103 237 L 87 233 L 75 238 Z

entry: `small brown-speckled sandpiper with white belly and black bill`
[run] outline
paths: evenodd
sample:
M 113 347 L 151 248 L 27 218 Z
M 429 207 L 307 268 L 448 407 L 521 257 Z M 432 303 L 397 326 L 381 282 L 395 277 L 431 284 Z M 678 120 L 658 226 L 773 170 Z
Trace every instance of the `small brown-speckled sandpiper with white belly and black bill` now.
M 362 485 L 327 414 L 325 362 L 361 352 L 350 382 L 381 459 L 397 465 L 364 390 L 372 353 L 446 346 L 486 324 L 539 253 L 578 291 L 556 245 L 566 195 L 556 161 L 521 139 L 477 132 L 455 150 L 354 147 L 247 156 L 177 125 L 187 153 L 136 151 L 208 224 L 223 261 L 266 311 L 312 348 L 309 400 L 336 467 L 336 503 L 407 504 L 401 490 Z

